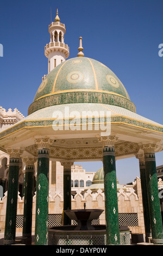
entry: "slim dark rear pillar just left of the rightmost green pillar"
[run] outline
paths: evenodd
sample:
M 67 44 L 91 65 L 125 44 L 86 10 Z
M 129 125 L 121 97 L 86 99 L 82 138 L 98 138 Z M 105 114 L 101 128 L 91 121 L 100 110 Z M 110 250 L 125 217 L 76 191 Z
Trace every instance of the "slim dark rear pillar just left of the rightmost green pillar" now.
M 143 203 L 143 216 L 144 216 L 144 222 L 145 222 L 146 242 L 149 242 L 148 237 L 151 236 L 151 221 L 150 221 L 150 215 L 149 215 L 147 180 L 146 180 L 146 167 L 145 167 L 144 154 L 143 153 L 137 153 L 136 154 L 136 158 L 139 159 L 140 179 L 141 179 L 141 192 L 142 192 L 142 203 Z

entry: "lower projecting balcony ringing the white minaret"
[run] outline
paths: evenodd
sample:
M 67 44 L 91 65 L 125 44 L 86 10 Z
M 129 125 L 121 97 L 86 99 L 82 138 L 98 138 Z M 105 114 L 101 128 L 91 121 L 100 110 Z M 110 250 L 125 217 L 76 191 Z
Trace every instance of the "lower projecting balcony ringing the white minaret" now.
M 57 23 L 57 22 L 55 22 Z M 45 46 L 45 56 L 48 58 L 49 53 L 54 52 L 54 51 L 60 51 L 64 52 L 66 58 L 69 56 L 69 47 L 66 45 L 64 42 L 49 42 Z

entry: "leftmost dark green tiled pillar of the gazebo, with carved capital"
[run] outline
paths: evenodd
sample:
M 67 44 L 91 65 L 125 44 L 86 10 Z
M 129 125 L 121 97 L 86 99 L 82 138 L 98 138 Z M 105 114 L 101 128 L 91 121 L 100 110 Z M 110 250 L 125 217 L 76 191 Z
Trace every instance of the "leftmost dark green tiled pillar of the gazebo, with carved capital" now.
M 23 151 L 19 149 L 9 149 L 9 182 L 7 193 L 7 209 L 5 214 L 4 245 L 15 243 L 16 235 L 16 214 L 17 214 L 17 194 L 18 194 L 18 174 L 20 167 L 20 154 Z

